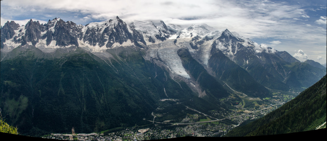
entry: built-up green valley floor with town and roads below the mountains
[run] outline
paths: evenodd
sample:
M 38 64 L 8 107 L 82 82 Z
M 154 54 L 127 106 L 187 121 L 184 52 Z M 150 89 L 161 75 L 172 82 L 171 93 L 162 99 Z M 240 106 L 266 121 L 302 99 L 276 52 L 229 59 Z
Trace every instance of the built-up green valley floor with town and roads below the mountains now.
M 134 141 L 166 139 L 182 136 L 219 137 L 241 124 L 246 124 L 266 115 L 299 94 L 298 92 L 285 93 L 275 92 L 272 97 L 255 100 L 247 97 L 247 99 L 243 98 L 244 100 L 242 100 L 242 103 L 235 103 L 235 101 L 232 101 L 233 97 L 230 96 L 221 99 L 222 102 L 231 104 L 230 109 L 224 110 L 223 112 L 215 110 L 204 111 L 207 114 L 183 105 L 178 99 L 161 99 L 160 103 L 162 106 L 159 106 L 151 113 L 154 118 L 143 119 L 148 121 L 147 125 L 135 125 L 133 127 L 119 128 L 120 131 L 114 132 L 101 131 L 98 133 L 80 133 L 77 135 L 51 133 L 49 135 L 44 135 L 43 138 L 68 139 L 69 136 L 73 136 L 73 138 L 78 140 L 104 139 Z M 172 103 L 164 103 L 165 101 L 171 101 Z M 232 102 L 234 102 L 234 105 Z M 180 110 L 185 113 L 185 115 L 183 115 L 184 118 L 178 122 L 174 122 L 176 121 L 175 118 L 165 118 L 165 116 L 173 115 L 174 113 L 160 112 L 160 110 L 163 109 L 169 111 L 178 107 L 176 105 L 184 106 L 184 108 L 180 107 Z M 162 121 L 163 118 L 167 120 Z

